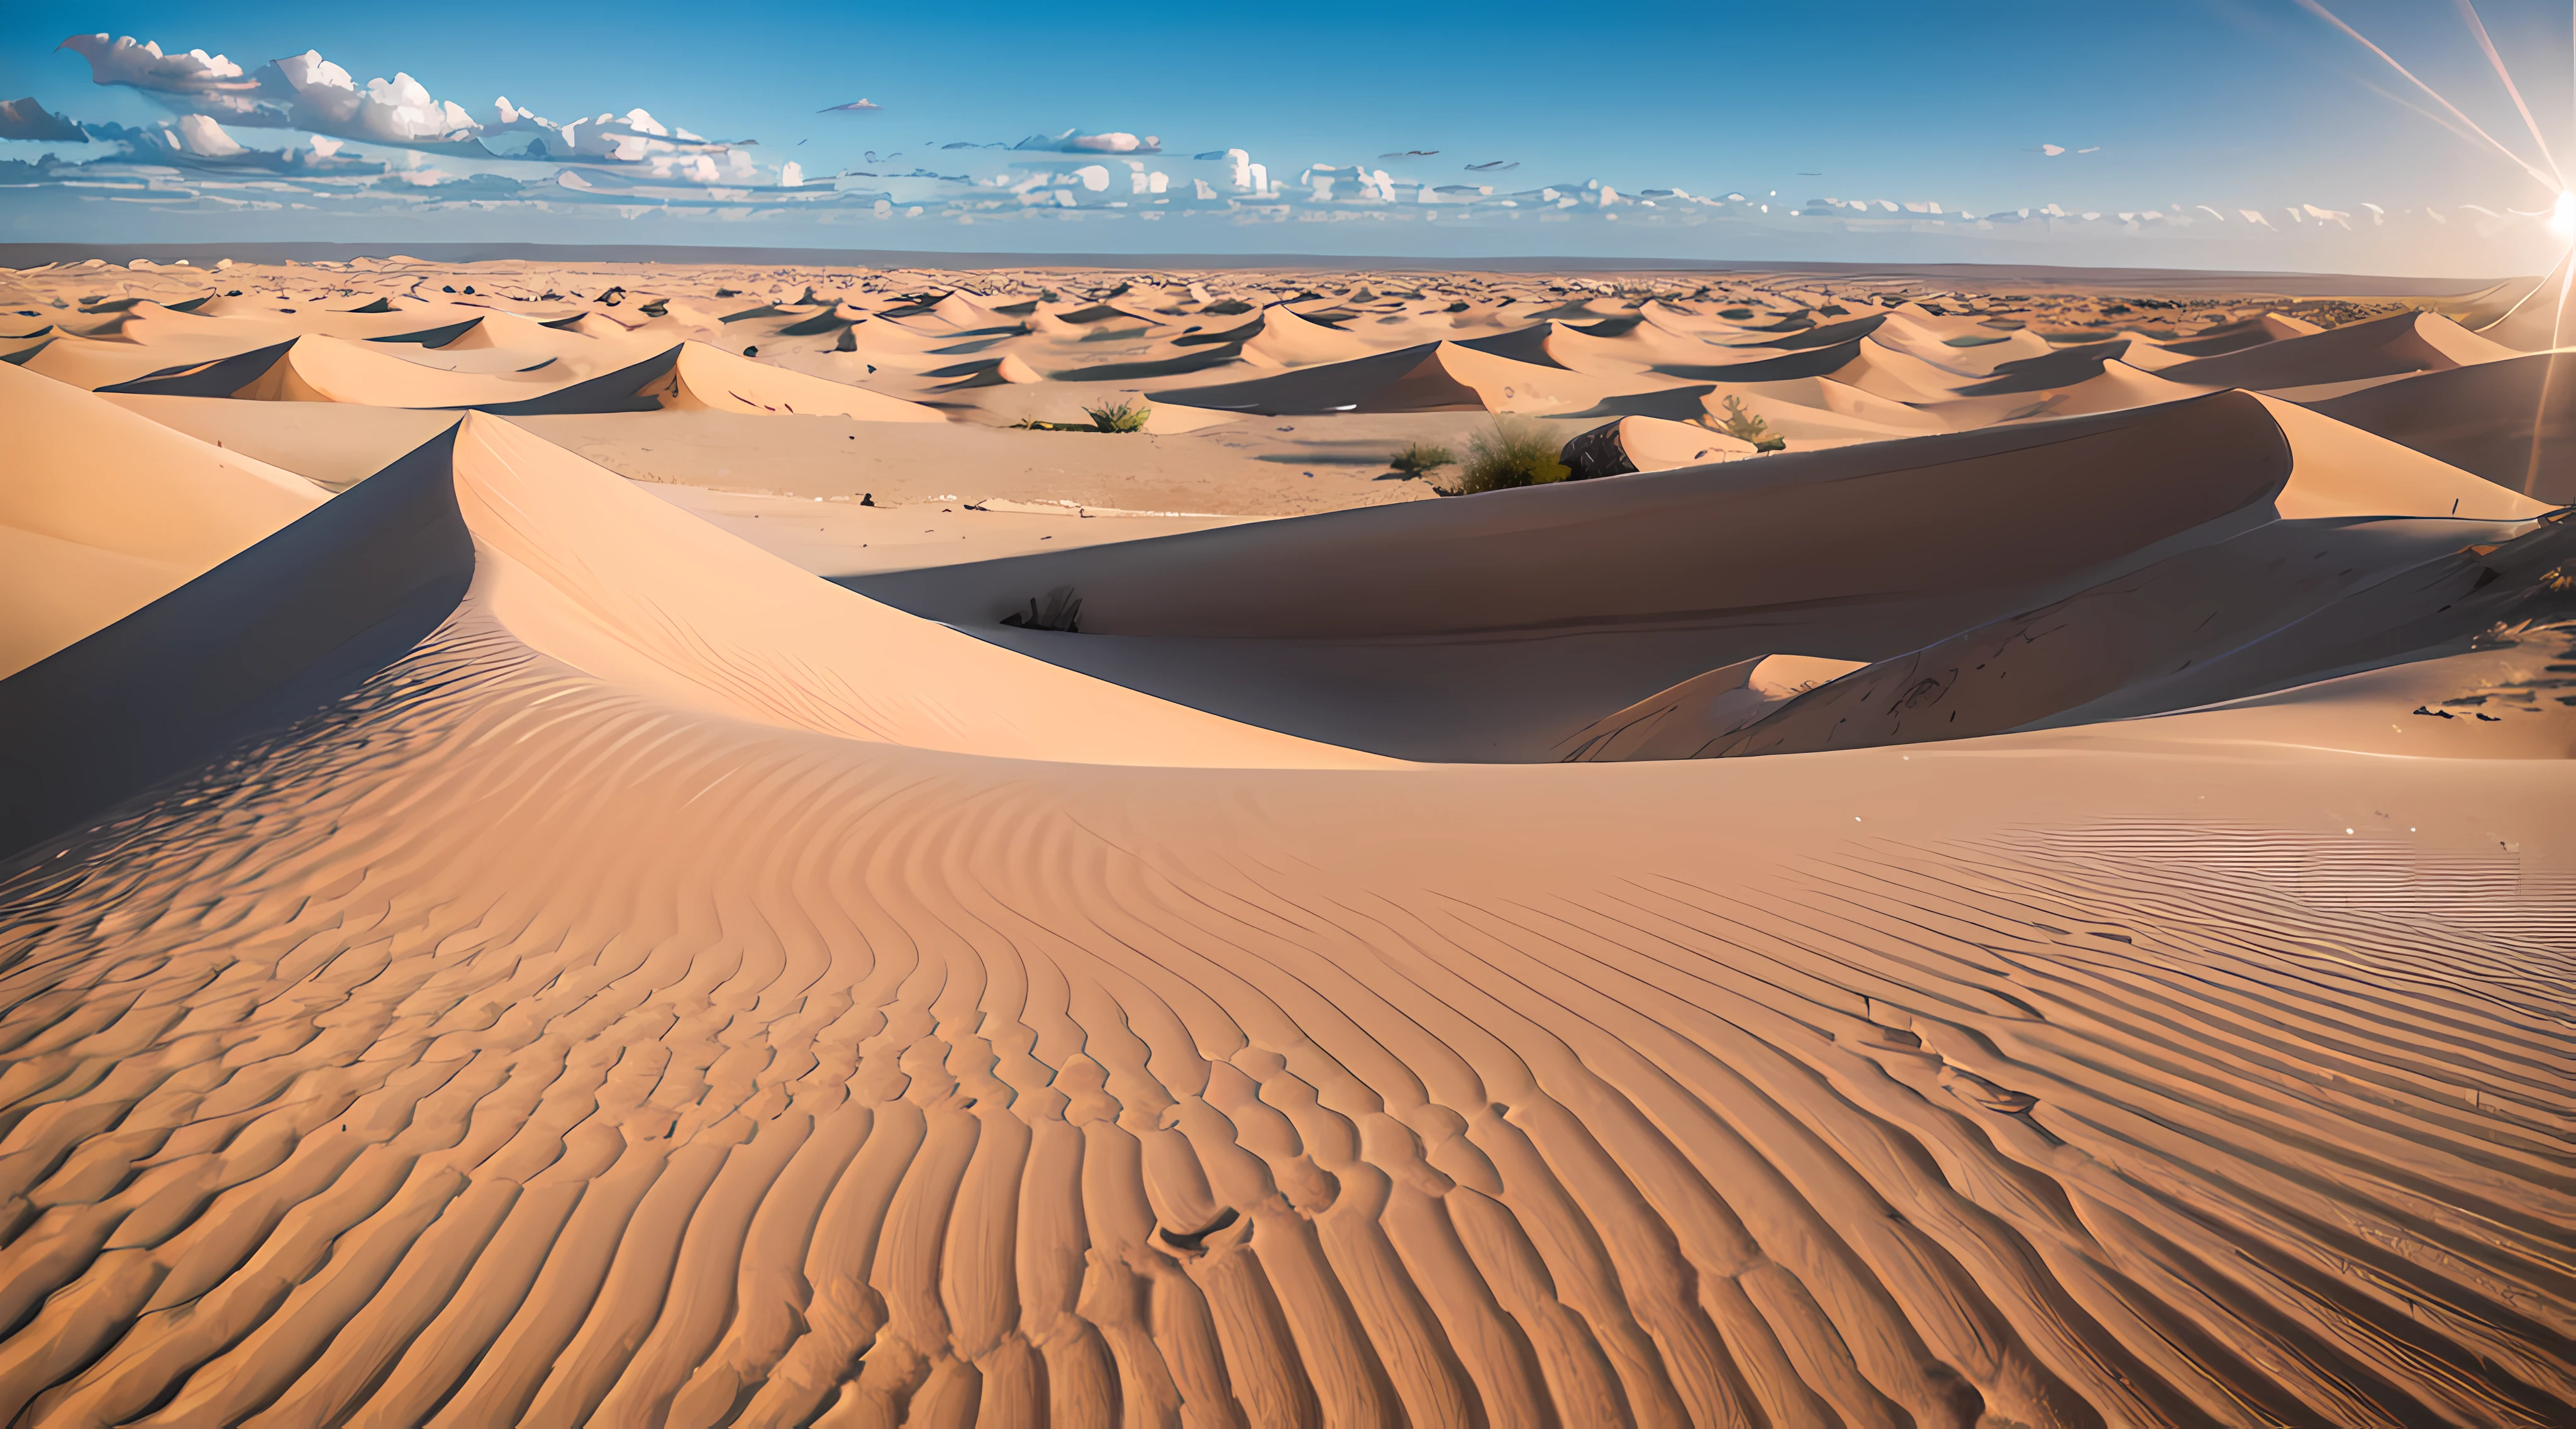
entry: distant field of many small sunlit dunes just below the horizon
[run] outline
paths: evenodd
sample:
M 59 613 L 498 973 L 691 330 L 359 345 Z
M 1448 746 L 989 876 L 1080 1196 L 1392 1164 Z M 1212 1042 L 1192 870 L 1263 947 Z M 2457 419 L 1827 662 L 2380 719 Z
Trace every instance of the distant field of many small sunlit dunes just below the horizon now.
M 636 394 L 623 389 L 659 381 L 662 355 L 672 348 L 688 350 L 693 342 L 708 353 L 696 353 L 690 368 L 706 366 L 716 350 L 726 355 L 744 350 L 768 371 L 866 386 L 979 422 L 1064 420 L 1072 409 L 1064 397 L 1028 402 L 979 397 L 994 386 L 1048 384 L 1115 389 L 1105 394 L 1113 402 L 1121 394 L 1146 394 L 1172 404 L 1216 404 L 1255 415 L 1321 417 L 1340 409 L 1473 404 L 1494 412 L 1651 415 L 1716 425 L 1718 417 L 1703 420 L 1690 407 L 1690 386 L 1723 384 L 1736 394 L 1741 386 L 1829 378 L 1893 407 L 1932 412 L 1929 422 L 1893 412 L 1842 412 L 1875 427 L 1819 425 L 1795 412 L 1785 415 L 1788 422 L 1808 427 L 1790 435 L 1793 448 L 1806 448 L 2032 415 L 2105 412 L 2236 384 L 2218 368 L 2184 373 L 2177 378 L 2182 389 L 2138 381 L 2138 373 L 2179 371 L 2213 355 L 2251 360 L 2249 353 L 2264 350 L 2269 355 L 2262 360 L 2277 371 L 2251 373 L 2249 381 L 2262 378 L 2257 386 L 2321 399 L 2352 384 L 2421 371 L 2427 363 L 2483 360 L 2501 353 L 2447 319 L 2414 312 L 2398 312 L 2380 324 L 2321 332 L 2313 322 L 2259 306 L 2246 312 L 2244 304 L 2215 304 L 2213 312 L 2177 327 L 2141 324 L 2143 314 L 2110 304 L 2105 314 L 2128 317 L 2117 324 L 2107 317 L 2084 319 L 2097 330 L 2089 337 L 2079 332 L 2043 337 L 2027 319 L 2061 312 L 2053 322 L 2063 324 L 2076 317 L 2063 306 L 2066 299 L 2022 306 L 1958 296 L 1896 299 L 1873 294 L 1868 283 L 1862 296 L 1834 283 L 1757 281 L 1728 283 L 1723 296 L 1703 288 L 1687 299 L 1625 301 L 1569 291 L 1561 283 L 1546 288 L 1494 281 L 1437 283 L 1445 291 L 1432 294 L 1422 288 L 1435 283 L 1370 288 L 1345 281 L 1316 291 L 1255 281 L 1249 291 L 1262 299 L 1255 304 L 1234 296 L 1218 301 L 1206 286 L 1162 278 L 1056 291 L 1048 286 L 1056 278 L 1028 276 L 971 286 L 933 273 L 886 273 L 858 286 L 848 278 L 781 283 L 757 276 L 750 291 L 742 291 L 670 273 L 654 276 L 662 291 L 652 294 L 623 283 L 603 288 L 603 278 L 582 281 L 564 273 L 518 281 L 495 270 L 477 288 L 386 273 L 374 299 L 366 299 L 363 286 L 317 294 L 309 278 L 273 288 L 247 278 L 252 283 L 245 288 L 247 296 L 180 299 L 155 288 L 152 296 L 85 299 L 93 306 L 64 317 L 70 337 L 28 337 L 36 345 L 52 342 L 62 353 L 46 358 L 36 350 L 28 360 L 39 363 L 39 371 L 85 386 L 147 378 L 162 384 L 149 391 L 178 391 L 167 384 L 188 378 L 185 366 L 219 358 L 255 366 L 250 353 L 258 348 L 317 335 L 381 345 L 415 366 L 459 376 L 544 381 L 549 384 L 544 407 L 513 407 L 510 394 L 471 386 L 446 394 L 461 402 L 435 394 L 410 402 L 531 415 L 634 409 Z M 868 299 L 863 296 L 868 291 L 886 296 Z M 1036 296 L 1025 296 L 1030 291 Z M 2020 317 L 2007 317 L 2014 312 Z M 2326 337 L 2324 345 L 2300 345 L 2318 335 Z M 1443 342 L 1458 350 L 1450 353 Z M 1435 360 L 1422 373 L 1414 373 L 1419 360 L 1401 363 L 1401 371 L 1381 371 L 1394 353 Z M 1499 358 L 1504 366 L 1486 358 Z M 2136 371 L 2110 371 L 2102 366 L 2107 360 Z M 353 381 L 340 371 L 348 363 L 330 363 L 325 355 L 314 355 L 314 363 L 330 368 L 325 376 Z M 1345 368 L 1345 363 L 1358 366 Z M 289 363 L 289 371 L 301 366 L 307 363 Z M 1551 371 L 1571 376 L 1548 376 Z M 2352 371 L 2370 376 L 2349 376 Z M 216 371 L 224 373 L 229 368 Z M 1283 376 L 1293 378 L 1285 389 L 1242 386 Z M 1406 384 L 1409 376 L 1414 381 Z M 2115 381 L 2097 381 L 2099 376 Z M 603 386 L 577 389 L 577 381 L 603 381 Z M 714 394 L 706 399 L 744 412 L 788 407 L 806 412 L 824 397 L 835 404 L 853 402 L 811 389 L 804 397 L 760 397 L 742 389 L 742 381 L 752 378 L 739 371 L 729 381 L 742 402 Z M 1391 384 L 1419 391 L 1386 391 Z M 1476 397 L 1468 399 L 1458 389 L 1473 389 Z M 399 397 L 381 384 L 374 391 L 355 384 L 350 391 L 363 391 L 371 402 Z M 2007 402 L 2009 397 L 2027 402 Z M 1082 399 L 1100 402 L 1103 394 L 1084 391 Z M 1839 407 L 1826 404 L 1826 409 Z

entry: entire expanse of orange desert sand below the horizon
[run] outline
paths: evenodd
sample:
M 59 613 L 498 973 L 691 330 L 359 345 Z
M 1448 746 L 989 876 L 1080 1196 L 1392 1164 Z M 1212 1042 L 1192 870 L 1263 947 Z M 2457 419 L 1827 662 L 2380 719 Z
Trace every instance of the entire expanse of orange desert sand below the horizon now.
M 0 1421 L 2563 1424 L 2527 291 L 0 273 Z

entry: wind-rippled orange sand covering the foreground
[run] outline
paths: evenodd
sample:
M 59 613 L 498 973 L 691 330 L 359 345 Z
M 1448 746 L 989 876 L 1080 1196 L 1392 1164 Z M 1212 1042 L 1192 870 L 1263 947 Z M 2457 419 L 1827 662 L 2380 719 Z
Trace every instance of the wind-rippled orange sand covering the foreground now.
M 2576 1416 L 2571 888 L 1381 883 L 1296 778 L 1404 775 L 863 747 L 464 615 L 0 886 L 0 1421 Z

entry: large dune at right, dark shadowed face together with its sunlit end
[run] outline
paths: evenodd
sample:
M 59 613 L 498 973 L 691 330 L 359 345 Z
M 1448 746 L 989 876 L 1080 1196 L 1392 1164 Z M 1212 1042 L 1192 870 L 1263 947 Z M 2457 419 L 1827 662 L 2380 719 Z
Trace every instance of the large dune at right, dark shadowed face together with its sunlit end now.
M 2401 572 L 2458 566 L 2476 582 L 2460 548 L 2506 541 L 2543 510 L 2300 407 L 2213 394 L 850 584 L 1309 739 L 1517 762 L 1564 757 L 1605 716 L 1718 667 L 1886 662 L 1989 626 L 2045 631 L 2058 602 L 2125 592 L 2141 572 L 2164 572 L 2166 592 L 2190 572 L 2190 602 L 2123 608 L 2172 626 L 2159 651 L 2205 664 Z M 1084 600 L 1079 639 L 997 626 L 1059 587 Z M 2208 605 L 2226 621 L 2210 626 Z M 2264 680 L 2205 698 L 2460 646 L 2496 618 L 2463 608 L 2421 641 L 2380 639 L 2432 615 L 2365 621 L 2362 654 L 2287 641 Z M 2076 651 L 2035 659 L 2071 669 Z M 2107 669 L 2112 687 L 2151 675 Z

